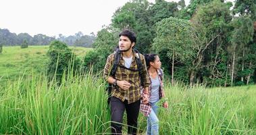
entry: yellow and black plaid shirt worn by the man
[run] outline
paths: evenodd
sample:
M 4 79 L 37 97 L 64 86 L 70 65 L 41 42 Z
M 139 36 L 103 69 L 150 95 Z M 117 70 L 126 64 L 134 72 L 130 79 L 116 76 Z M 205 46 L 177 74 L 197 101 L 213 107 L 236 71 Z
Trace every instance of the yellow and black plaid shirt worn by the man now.
M 145 57 L 142 54 L 139 54 L 139 55 L 140 55 L 142 65 L 144 67 L 143 71 L 142 71 L 142 78 L 144 80 L 143 84 L 144 84 L 144 87 L 149 87 L 150 79 L 149 79 L 149 75 L 147 74 Z M 137 70 L 138 66 L 136 64 L 135 57 L 138 57 L 138 53 L 132 54 L 132 63 L 130 65 L 130 69 Z M 109 74 L 111 72 L 114 61 L 115 61 L 115 53 L 112 53 L 111 55 L 109 55 L 109 57 L 107 57 L 107 63 L 104 68 L 103 77 L 105 78 L 105 80 L 107 80 L 107 78 L 109 78 Z M 124 65 L 124 59 L 122 59 L 122 53 L 121 53 L 119 65 Z M 118 66 L 118 68 L 116 70 L 116 75 L 111 76 L 111 77 L 115 78 L 116 80 L 126 80 L 127 82 L 129 82 L 131 84 L 131 86 L 128 90 L 123 90 L 119 86 L 115 87 L 112 85 L 111 96 L 116 97 L 123 102 L 124 102 L 124 100 L 127 99 L 128 104 L 134 103 L 134 102 L 140 100 L 141 86 L 140 86 L 140 76 L 139 76 L 138 72 L 132 72 L 130 70 L 126 70 L 126 69 L 120 68 Z

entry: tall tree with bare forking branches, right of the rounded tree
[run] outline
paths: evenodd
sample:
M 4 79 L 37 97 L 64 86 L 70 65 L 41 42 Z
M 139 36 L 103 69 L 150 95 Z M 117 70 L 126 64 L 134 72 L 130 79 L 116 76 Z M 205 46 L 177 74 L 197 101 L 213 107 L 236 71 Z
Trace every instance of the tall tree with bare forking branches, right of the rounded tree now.
M 226 48 L 230 29 L 230 4 L 212 1 L 199 6 L 191 19 L 195 32 L 195 59 L 190 72 L 190 84 L 200 82 L 224 85 L 228 68 Z M 201 72 L 199 72 L 201 71 Z

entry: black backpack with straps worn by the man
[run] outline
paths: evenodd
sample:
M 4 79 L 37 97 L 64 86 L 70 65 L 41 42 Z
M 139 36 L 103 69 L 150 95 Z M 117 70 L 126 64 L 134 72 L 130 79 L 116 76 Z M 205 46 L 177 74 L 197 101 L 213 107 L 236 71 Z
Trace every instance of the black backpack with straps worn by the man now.
M 119 49 L 116 50 L 116 53 L 115 53 L 115 56 L 114 56 L 114 59 L 115 61 L 113 62 L 113 66 L 111 68 L 111 71 L 110 71 L 110 74 L 109 76 L 115 76 L 116 74 L 116 70 L 118 69 L 118 67 L 120 68 L 124 68 L 126 70 L 130 70 L 131 72 L 138 72 L 138 75 L 140 76 L 140 85 L 143 86 L 143 77 L 142 77 L 142 70 L 143 70 L 143 64 L 141 63 L 141 59 L 140 59 L 140 53 L 138 52 L 138 50 L 136 49 L 133 49 L 134 53 L 138 54 L 138 57 L 135 57 L 135 61 L 136 61 L 136 64 L 137 64 L 137 67 L 138 69 L 137 70 L 134 70 L 134 69 L 130 69 L 130 68 L 126 68 L 124 65 L 119 65 L 119 61 L 120 61 L 120 58 L 121 58 L 121 53 L 122 51 L 120 51 Z M 110 103 L 110 97 L 111 97 L 111 86 L 112 84 L 109 84 L 108 88 L 107 88 L 107 91 L 108 91 L 108 98 L 107 98 L 107 103 L 109 104 Z

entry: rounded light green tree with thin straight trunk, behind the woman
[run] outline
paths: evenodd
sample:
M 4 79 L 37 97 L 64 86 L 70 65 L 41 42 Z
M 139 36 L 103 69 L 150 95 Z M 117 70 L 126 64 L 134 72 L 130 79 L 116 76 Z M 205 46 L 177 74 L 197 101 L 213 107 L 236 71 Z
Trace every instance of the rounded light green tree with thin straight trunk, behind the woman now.
M 190 24 L 187 20 L 165 18 L 157 22 L 156 34 L 153 48 L 158 52 L 168 51 L 168 58 L 172 61 L 172 84 L 174 84 L 175 61 L 185 61 L 190 57 L 192 43 Z

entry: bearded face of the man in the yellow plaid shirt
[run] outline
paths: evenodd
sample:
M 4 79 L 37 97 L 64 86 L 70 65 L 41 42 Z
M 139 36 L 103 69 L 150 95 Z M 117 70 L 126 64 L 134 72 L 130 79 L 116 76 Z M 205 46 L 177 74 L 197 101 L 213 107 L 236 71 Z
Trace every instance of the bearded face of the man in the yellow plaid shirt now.
M 120 51 L 129 51 L 135 43 L 132 43 L 127 36 L 120 36 L 119 38 L 119 49 Z

